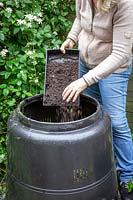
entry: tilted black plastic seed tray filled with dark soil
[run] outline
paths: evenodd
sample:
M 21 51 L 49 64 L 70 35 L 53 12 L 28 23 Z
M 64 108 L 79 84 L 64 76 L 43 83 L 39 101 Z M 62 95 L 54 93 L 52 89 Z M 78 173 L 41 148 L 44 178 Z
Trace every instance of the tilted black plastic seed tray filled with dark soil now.
M 79 97 L 69 103 L 62 99 L 65 87 L 78 78 L 79 50 L 67 49 L 65 54 L 59 49 L 47 50 L 43 105 L 79 106 Z

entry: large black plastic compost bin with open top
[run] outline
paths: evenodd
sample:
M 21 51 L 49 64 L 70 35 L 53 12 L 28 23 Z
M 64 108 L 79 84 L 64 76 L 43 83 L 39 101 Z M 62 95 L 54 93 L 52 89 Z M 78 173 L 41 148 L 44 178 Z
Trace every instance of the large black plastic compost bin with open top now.
M 95 99 L 81 96 L 81 116 L 59 122 L 56 108 L 42 102 L 42 95 L 26 99 L 9 119 L 7 199 L 114 199 L 109 116 Z

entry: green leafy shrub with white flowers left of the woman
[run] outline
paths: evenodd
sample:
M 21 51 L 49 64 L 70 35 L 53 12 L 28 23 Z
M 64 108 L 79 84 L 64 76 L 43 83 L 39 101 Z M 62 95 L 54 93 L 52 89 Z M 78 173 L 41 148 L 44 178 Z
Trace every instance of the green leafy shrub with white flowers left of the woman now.
M 7 119 L 24 98 L 43 93 L 45 50 L 59 48 L 72 22 L 71 0 L 0 2 L 0 168 Z M 2 167 L 1 167 L 2 166 Z M 0 176 L 1 176 L 0 172 Z

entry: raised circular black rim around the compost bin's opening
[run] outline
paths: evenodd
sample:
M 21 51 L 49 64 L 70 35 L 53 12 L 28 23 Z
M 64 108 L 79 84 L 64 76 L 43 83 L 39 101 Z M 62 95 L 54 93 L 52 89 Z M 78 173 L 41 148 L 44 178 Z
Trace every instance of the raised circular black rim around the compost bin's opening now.
M 83 94 L 81 94 L 81 96 L 87 97 Z M 99 102 L 93 97 L 89 96 L 87 98 L 91 99 L 97 105 L 96 111 L 93 114 L 83 119 L 79 119 L 79 120 L 75 120 L 71 122 L 42 122 L 42 121 L 37 121 L 35 119 L 25 116 L 21 111 L 22 106 L 26 104 L 27 105 L 30 104 L 31 101 L 36 102 L 38 99 L 43 99 L 42 94 L 37 94 L 32 97 L 28 97 L 22 102 L 20 102 L 20 104 L 18 105 L 18 108 L 16 109 L 16 115 L 18 116 L 22 124 L 25 124 L 26 126 L 30 128 L 35 128 L 38 130 L 43 130 L 43 131 L 45 130 L 45 131 L 52 131 L 52 132 L 77 130 L 77 129 L 85 128 L 86 126 L 95 123 L 98 119 L 101 119 L 103 116 L 103 110 Z

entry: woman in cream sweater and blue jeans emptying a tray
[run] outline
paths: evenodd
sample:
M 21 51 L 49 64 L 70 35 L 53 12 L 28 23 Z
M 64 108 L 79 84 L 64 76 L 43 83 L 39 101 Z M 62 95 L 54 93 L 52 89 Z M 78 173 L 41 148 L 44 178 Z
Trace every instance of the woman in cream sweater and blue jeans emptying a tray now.
M 113 145 L 120 173 L 122 199 L 133 199 L 128 182 L 133 177 L 133 143 L 126 118 L 126 94 L 131 74 L 132 0 L 76 0 L 76 19 L 61 46 L 80 50 L 81 78 L 63 91 L 75 101 L 84 90 L 98 99 L 112 119 Z

